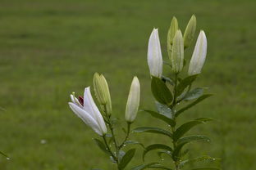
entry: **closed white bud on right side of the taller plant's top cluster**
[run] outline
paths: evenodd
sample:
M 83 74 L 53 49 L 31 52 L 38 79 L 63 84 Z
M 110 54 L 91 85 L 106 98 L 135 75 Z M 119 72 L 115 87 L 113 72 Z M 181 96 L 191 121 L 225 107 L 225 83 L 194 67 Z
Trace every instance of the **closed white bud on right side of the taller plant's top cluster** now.
M 194 47 L 194 52 L 190 60 L 189 75 L 200 74 L 207 53 L 207 39 L 203 30 L 199 33 L 199 38 Z

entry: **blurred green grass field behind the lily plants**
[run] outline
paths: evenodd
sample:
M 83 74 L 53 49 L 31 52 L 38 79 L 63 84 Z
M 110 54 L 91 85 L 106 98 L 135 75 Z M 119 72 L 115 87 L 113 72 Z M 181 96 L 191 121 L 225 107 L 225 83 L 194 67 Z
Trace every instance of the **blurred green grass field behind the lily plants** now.
M 224 170 L 256 169 L 255 9 L 254 0 L 1 0 L 0 105 L 6 111 L 0 112 L 0 150 L 11 160 L 0 156 L 0 169 L 114 169 L 94 145 L 96 134 L 69 109 L 70 93 L 82 94 L 92 85 L 94 72 L 103 73 L 121 127 L 130 82 L 137 75 L 141 108 L 153 109 L 146 62 L 149 34 L 159 28 L 167 60 L 171 17 L 177 17 L 184 31 L 192 14 L 197 34 L 203 29 L 208 37 L 197 85 L 210 87 L 215 96 L 180 121 L 206 116 L 217 121 L 191 131 L 210 136 L 212 142 L 189 145 L 190 156 L 222 158 L 217 166 Z M 139 113 L 133 128 L 145 125 L 165 127 Z M 150 134 L 131 138 L 146 145 L 169 142 Z M 142 163 L 137 149 L 130 167 Z

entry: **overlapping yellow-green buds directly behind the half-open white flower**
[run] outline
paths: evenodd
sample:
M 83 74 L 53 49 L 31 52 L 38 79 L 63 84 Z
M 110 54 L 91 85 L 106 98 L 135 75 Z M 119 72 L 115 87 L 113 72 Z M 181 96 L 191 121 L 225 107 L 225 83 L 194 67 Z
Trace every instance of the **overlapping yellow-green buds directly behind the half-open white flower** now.
M 106 105 L 107 114 L 112 112 L 112 103 L 111 97 L 107 85 L 106 78 L 103 74 L 99 75 L 98 73 L 94 74 L 94 92 L 95 96 L 100 105 Z

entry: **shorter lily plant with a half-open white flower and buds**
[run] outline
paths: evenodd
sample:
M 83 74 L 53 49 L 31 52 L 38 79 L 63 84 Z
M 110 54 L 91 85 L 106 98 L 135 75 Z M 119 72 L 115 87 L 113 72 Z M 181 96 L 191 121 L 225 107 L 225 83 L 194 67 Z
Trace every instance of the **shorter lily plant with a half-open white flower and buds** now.
M 111 96 L 107 80 L 103 74 L 94 74 L 94 95 L 98 101 L 98 106 L 94 102 L 90 87 L 85 87 L 84 96 L 78 98 L 73 92 L 71 102 L 68 104 L 71 110 L 101 137 L 101 139 L 94 138 L 98 147 L 110 157 L 112 163 L 117 164 L 118 170 L 124 169 L 135 154 L 134 148 L 125 151 L 123 150 L 124 146 L 139 144 L 137 141 L 129 140 L 130 126 L 135 121 L 139 109 L 139 79 L 134 77 L 130 86 L 125 114 L 126 136 L 122 141 L 117 140 L 117 134 L 114 130 L 115 119 L 112 118 Z M 111 143 L 113 143 L 113 147 Z

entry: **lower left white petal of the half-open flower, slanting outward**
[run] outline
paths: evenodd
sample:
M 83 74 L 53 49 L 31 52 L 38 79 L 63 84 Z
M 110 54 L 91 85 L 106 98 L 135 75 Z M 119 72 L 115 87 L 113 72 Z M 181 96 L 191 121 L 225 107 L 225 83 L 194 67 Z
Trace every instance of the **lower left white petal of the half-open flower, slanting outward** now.
M 80 118 L 82 119 L 85 124 L 87 124 L 90 128 L 94 130 L 94 132 L 98 133 L 98 135 L 103 136 L 103 132 L 98 126 L 96 120 L 90 116 L 85 110 L 82 110 L 78 105 L 69 102 L 68 103 L 71 107 L 71 110 Z

